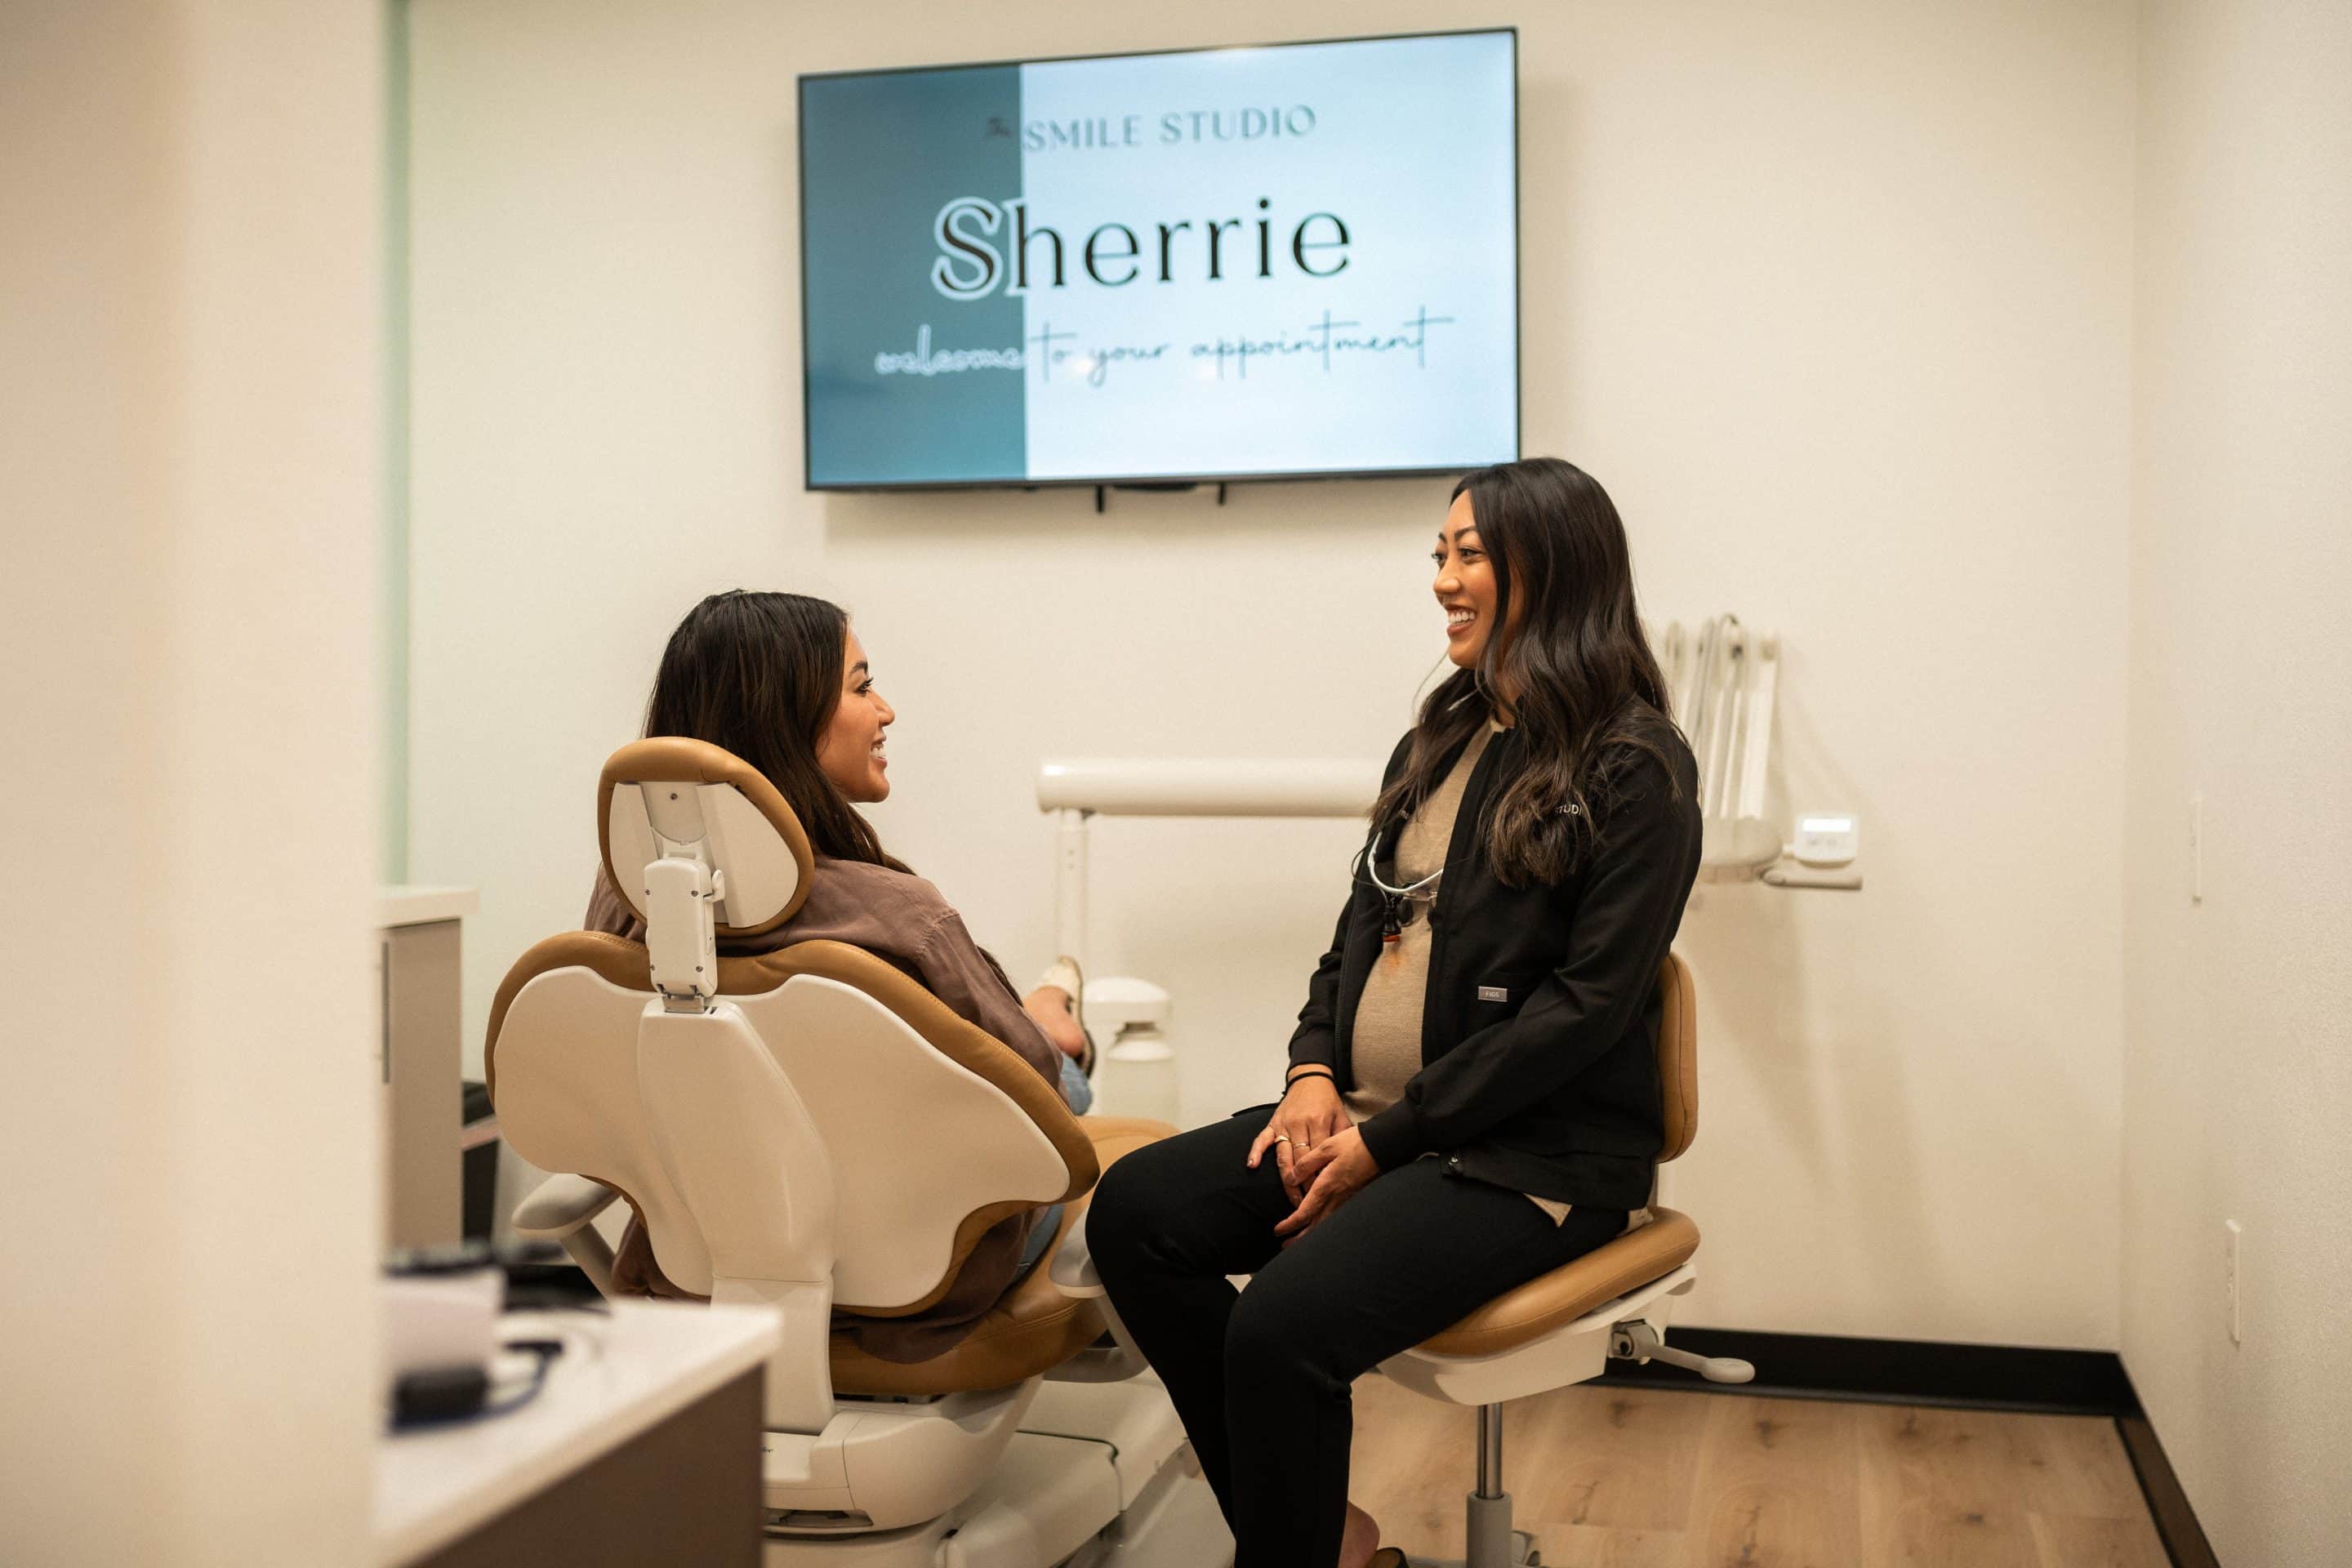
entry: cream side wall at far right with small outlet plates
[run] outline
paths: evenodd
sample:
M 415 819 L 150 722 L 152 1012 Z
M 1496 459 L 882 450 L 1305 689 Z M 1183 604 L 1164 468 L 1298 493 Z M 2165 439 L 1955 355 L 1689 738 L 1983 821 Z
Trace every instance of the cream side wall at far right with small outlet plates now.
M 2122 1328 L 2225 1563 L 2352 1561 L 2347 169 L 2352 12 L 2147 7 Z

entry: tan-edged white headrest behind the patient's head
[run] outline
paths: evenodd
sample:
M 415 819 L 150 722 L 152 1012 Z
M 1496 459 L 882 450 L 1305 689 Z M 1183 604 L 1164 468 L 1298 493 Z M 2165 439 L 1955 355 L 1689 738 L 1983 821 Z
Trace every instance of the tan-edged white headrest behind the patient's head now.
M 647 919 L 644 867 L 663 844 L 701 844 L 727 877 L 713 912 L 720 936 L 774 931 L 809 896 L 809 835 L 760 769 L 708 741 L 649 736 L 604 762 L 595 788 L 604 875 Z

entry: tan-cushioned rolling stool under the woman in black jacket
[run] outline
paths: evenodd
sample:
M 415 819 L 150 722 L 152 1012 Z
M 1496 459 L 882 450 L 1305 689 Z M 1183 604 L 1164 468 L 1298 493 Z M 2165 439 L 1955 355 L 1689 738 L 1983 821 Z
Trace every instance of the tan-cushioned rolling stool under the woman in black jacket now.
M 1670 952 L 1658 969 L 1658 999 L 1663 1166 L 1698 1135 L 1696 1004 L 1691 971 L 1679 954 Z M 1381 1375 L 1416 1394 L 1477 1406 L 1477 1490 L 1468 1497 L 1470 1552 L 1463 1568 L 1534 1568 L 1543 1561 L 1536 1537 L 1510 1526 L 1510 1493 L 1503 1490 L 1505 1401 L 1599 1378 L 1611 1359 L 1665 1361 L 1710 1382 L 1755 1378 L 1745 1361 L 1693 1356 L 1665 1345 L 1675 1298 L 1698 1284 L 1691 1269 L 1698 1227 L 1689 1215 L 1658 1204 L 1651 1204 L 1649 1215 L 1649 1225 L 1505 1291 L 1444 1333 L 1381 1363 Z

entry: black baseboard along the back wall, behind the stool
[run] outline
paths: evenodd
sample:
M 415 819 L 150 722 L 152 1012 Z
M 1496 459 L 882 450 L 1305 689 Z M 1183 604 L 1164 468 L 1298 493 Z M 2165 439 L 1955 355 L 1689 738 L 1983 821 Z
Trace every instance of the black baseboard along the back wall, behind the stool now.
M 1611 1361 L 1606 1387 L 1684 1387 L 1710 1394 L 1860 1399 L 1872 1403 L 2032 1410 L 2039 1415 L 2140 1415 L 2140 1399 L 2112 1349 L 2027 1349 L 1933 1340 L 1849 1340 L 1818 1333 L 1675 1328 L 1677 1349 L 1736 1356 L 1755 1382 L 1708 1382 L 1679 1366 Z

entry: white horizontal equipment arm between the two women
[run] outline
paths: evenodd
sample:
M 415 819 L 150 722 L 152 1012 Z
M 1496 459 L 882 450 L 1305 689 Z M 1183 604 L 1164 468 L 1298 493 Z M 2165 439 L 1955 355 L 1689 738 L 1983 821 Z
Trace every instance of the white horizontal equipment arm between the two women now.
M 1040 811 L 1094 816 L 1364 816 L 1381 764 L 1359 757 L 1068 757 L 1037 766 Z

